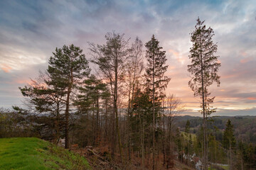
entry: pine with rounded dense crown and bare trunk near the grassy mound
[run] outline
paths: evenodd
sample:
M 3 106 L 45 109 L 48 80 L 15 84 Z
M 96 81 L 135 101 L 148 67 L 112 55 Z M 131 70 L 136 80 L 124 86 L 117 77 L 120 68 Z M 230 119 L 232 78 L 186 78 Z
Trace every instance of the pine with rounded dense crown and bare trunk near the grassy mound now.
M 70 103 L 73 101 L 73 92 L 82 84 L 82 80 L 90 74 L 89 63 L 82 54 L 82 49 L 75 45 L 63 45 L 56 48 L 53 57 L 48 61 L 47 72 L 51 84 L 61 86 L 65 90 L 65 148 L 69 148 Z

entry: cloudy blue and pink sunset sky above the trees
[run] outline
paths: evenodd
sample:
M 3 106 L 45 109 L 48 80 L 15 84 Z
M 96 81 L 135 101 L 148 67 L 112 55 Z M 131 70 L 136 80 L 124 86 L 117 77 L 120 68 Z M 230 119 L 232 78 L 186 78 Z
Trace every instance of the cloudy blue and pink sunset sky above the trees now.
M 105 34 L 114 30 L 130 43 L 138 36 L 145 44 L 154 34 L 169 65 L 166 94 L 181 99 L 184 114 L 201 115 L 187 71 L 198 17 L 213 28 L 221 62 L 220 86 L 210 86 L 214 115 L 256 115 L 255 0 L 0 1 L 0 107 L 23 106 L 18 86 L 46 70 L 55 47 L 73 43 L 90 59 L 88 42 L 105 44 Z

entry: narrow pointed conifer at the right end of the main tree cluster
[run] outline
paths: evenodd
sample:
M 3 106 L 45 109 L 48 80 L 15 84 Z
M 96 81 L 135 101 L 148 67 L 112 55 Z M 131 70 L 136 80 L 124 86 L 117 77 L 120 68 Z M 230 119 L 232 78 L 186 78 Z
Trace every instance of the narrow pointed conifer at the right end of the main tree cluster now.
M 166 88 L 170 79 L 164 76 L 168 66 L 164 65 L 166 63 L 165 51 L 162 51 L 162 47 L 159 46 L 159 41 L 152 36 L 149 42 L 146 42 L 146 88 L 153 101 L 152 117 L 153 117 L 153 170 L 155 169 L 155 132 L 156 132 L 156 116 L 158 114 L 158 109 L 156 109 L 156 103 L 164 97 L 163 90 Z

